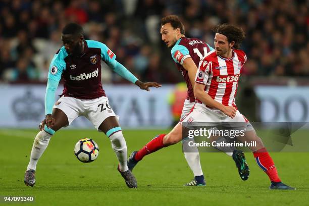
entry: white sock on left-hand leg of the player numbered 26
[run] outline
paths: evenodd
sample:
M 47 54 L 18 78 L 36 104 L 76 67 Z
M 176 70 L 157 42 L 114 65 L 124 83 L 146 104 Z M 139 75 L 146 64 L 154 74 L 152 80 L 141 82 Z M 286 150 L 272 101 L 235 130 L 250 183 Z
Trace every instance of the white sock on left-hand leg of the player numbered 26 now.
M 45 151 L 50 137 L 52 137 L 52 135 L 48 134 L 44 130 L 37 133 L 33 142 L 30 162 L 28 164 L 27 170 L 36 170 L 37 161 L 40 159 L 42 153 Z

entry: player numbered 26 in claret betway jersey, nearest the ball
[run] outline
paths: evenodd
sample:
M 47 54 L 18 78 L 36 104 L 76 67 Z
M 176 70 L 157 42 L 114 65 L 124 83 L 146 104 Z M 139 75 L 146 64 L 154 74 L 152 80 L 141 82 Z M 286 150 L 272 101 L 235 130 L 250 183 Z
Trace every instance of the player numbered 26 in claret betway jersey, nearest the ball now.
M 35 184 L 36 165 L 50 137 L 62 127 L 70 125 L 77 117 L 85 116 L 98 131 L 104 132 L 109 137 L 119 162 L 118 171 L 129 188 L 136 188 L 136 179 L 127 166 L 126 141 L 102 89 L 100 61 L 106 62 L 116 73 L 140 89 L 149 91 L 149 87 L 161 85 L 157 82 L 139 81 L 116 61 L 116 55 L 104 43 L 85 40 L 83 29 L 78 24 L 67 24 L 62 31 L 61 39 L 64 46 L 58 50 L 49 66 L 45 119 L 41 131 L 34 139 L 30 162 L 25 173 L 25 184 L 30 186 Z M 61 77 L 64 79 L 64 89 L 55 104 L 55 92 Z

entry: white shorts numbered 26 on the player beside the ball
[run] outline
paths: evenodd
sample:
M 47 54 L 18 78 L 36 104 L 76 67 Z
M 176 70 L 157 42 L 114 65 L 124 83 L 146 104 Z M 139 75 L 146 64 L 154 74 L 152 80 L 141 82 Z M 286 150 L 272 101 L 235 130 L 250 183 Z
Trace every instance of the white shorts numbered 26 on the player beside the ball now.
M 99 132 L 101 131 L 98 127 L 106 118 L 116 117 L 106 96 L 95 99 L 78 99 L 71 96 L 62 96 L 53 108 L 60 109 L 67 115 L 69 125 L 79 116 L 84 116 Z

